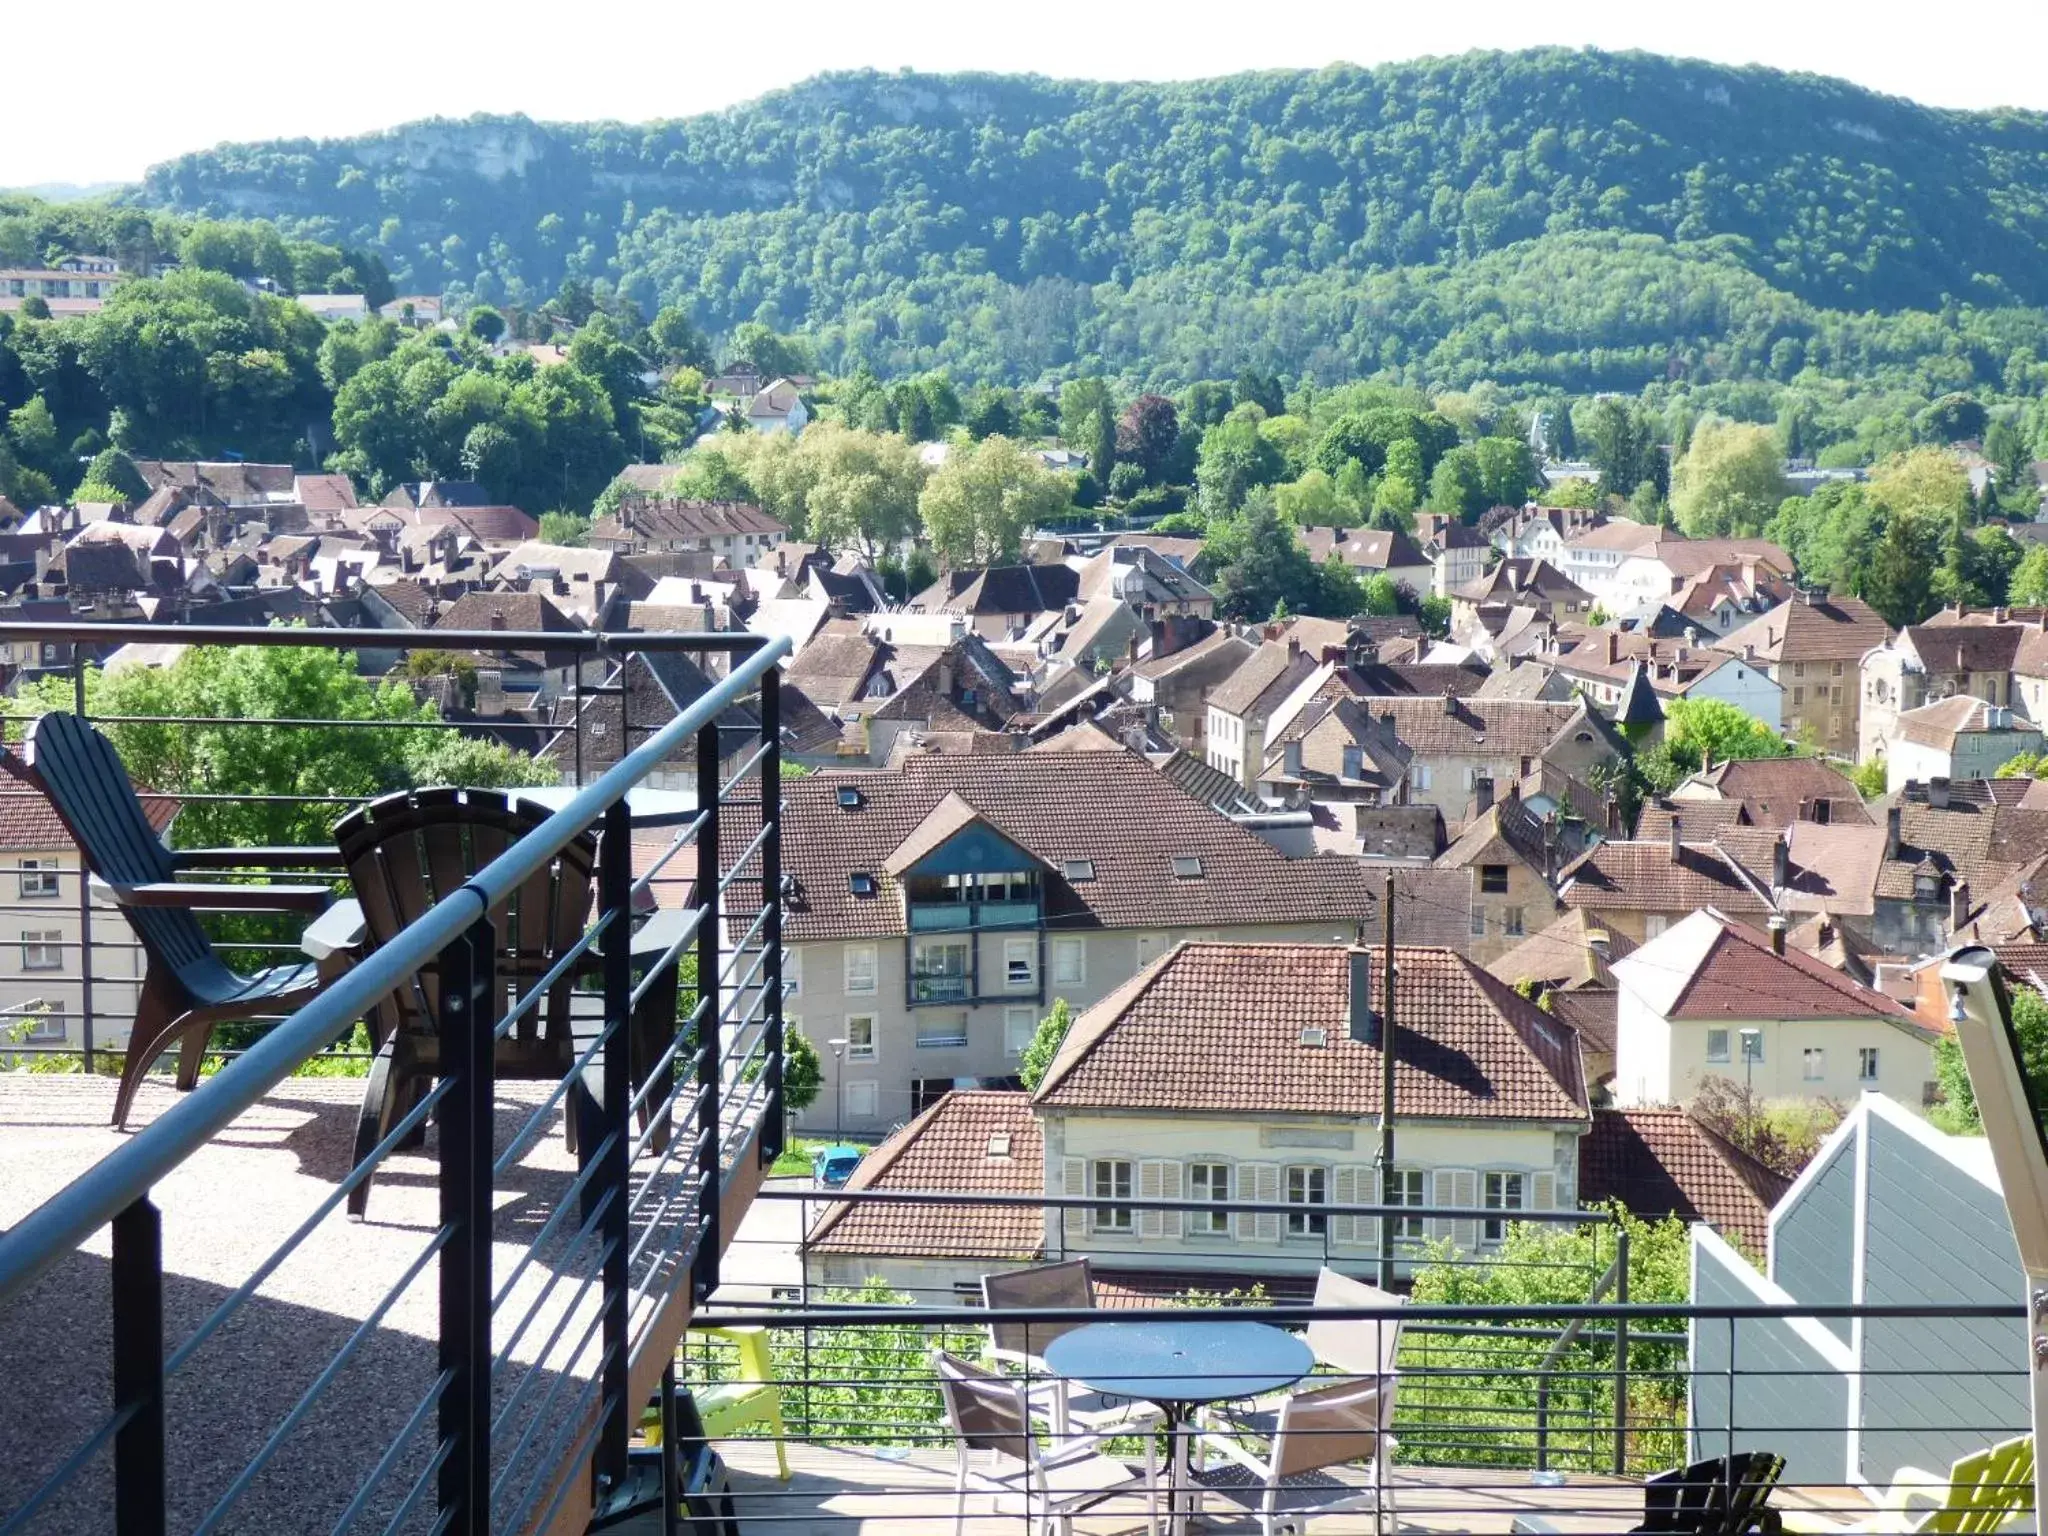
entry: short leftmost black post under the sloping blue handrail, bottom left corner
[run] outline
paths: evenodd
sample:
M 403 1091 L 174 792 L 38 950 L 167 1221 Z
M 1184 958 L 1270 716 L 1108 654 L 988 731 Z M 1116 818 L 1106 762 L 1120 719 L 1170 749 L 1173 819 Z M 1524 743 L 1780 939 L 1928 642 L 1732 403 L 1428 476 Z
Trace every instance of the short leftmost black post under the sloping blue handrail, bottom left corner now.
M 113 1219 L 115 1532 L 164 1536 L 164 1219 L 137 1200 Z

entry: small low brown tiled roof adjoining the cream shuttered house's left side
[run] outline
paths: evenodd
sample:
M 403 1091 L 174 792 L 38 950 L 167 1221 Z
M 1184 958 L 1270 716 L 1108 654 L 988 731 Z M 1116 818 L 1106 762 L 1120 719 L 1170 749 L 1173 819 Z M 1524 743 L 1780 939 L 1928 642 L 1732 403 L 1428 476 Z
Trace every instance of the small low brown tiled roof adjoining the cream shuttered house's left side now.
M 995 1151 L 1004 1147 L 1006 1151 Z M 1044 1196 L 1044 1137 L 1030 1094 L 954 1090 L 860 1159 L 848 1190 L 926 1190 Z M 807 1245 L 825 1253 L 1034 1260 L 1044 1210 L 1030 1204 L 827 1206 Z

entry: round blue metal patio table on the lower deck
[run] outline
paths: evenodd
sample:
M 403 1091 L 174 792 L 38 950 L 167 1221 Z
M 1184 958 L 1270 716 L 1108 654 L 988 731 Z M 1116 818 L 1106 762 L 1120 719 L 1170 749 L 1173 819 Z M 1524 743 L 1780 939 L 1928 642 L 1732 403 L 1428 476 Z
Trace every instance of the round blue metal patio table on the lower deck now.
M 1176 1536 L 1188 1528 L 1186 1425 L 1204 1403 L 1264 1397 L 1311 1370 L 1309 1346 L 1270 1323 L 1087 1323 L 1044 1348 L 1044 1366 L 1106 1397 L 1157 1405 L 1167 1432 L 1167 1513 Z

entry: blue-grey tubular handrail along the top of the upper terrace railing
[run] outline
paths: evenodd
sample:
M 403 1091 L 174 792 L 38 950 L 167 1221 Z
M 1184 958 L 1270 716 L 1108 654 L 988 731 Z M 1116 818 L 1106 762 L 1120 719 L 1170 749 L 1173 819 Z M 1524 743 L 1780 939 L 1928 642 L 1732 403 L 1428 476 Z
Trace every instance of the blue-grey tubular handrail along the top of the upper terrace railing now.
M 119 637 L 127 641 L 135 639 L 137 631 L 152 641 L 166 639 L 160 625 L 0 625 L 0 641 L 10 633 L 33 631 L 35 635 L 47 635 L 51 629 L 59 633 L 88 633 L 94 639 Z M 260 633 L 268 643 L 279 635 L 334 637 L 356 631 L 268 629 Z M 424 631 L 420 639 L 432 633 Z M 248 643 L 250 631 L 193 625 L 184 635 L 221 635 L 219 643 Z M 414 639 L 412 631 L 406 631 L 406 635 L 410 643 Z M 465 649 L 475 649 L 477 641 L 504 645 L 506 633 L 483 631 L 479 635 L 461 631 L 457 639 L 463 641 Z M 584 649 L 598 649 L 612 639 L 631 639 L 637 645 L 643 639 L 657 637 L 598 633 L 584 639 L 598 643 Z M 145 1198 L 160 1178 L 205 1147 L 236 1116 L 250 1110 L 264 1094 L 289 1077 L 299 1063 L 338 1040 L 365 1010 L 383 1001 L 406 977 L 453 944 L 477 918 L 500 905 L 522 881 L 596 823 L 612 801 L 653 772 L 664 758 L 690 741 L 696 731 L 715 723 L 735 698 L 743 696 L 750 684 L 758 682 L 791 651 L 788 637 L 762 641 L 752 635 L 684 635 L 682 639 L 696 643 L 745 639 L 752 649 L 743 659 L 735 659 L 727 676 L 719 678 L 694 705 L 680 711 L 674 721 L 612 764 L 612 768 L 582 788 L 565 807 L 520 838 L 500 858 L 492 860 L 461 891 L 438 901 L 389 944 L 383 944 L 371 961 L 342 975 L 313 1001 L 283 1020 L 233 1063 L 223 1067 L 203 1090 L 182 1096 L 178 1104 L 57 1190 L 10 1231 L 0 1233 L 0 1305 L 12 1300 L 55 1268 L 66 1253 L 111 1223 L 121 1210 Z M 199 639 L 197 643 L 215 641 Z M 328 643 L 334 641 L 330 639 Z M 741 647 L 723 645 L 719 649 L 737 651 Z

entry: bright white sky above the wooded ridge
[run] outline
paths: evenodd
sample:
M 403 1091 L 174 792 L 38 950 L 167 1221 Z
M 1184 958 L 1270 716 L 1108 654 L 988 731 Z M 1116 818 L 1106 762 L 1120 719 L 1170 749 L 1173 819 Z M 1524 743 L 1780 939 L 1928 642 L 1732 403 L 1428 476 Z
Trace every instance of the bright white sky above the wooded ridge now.
M 90 55 L 74 59 L 84 74 L 8 72 L 14 131 L 0 135 L 0 186 L 133 180 L 158 160 L 229 139 L 342 137 L 420 117 L 684 117 L 854 68 L 1190 80 L 1589 45 L 1833 74 L 1937 106 L 2048 111 L 2040 0 L 1978 0 L 1946 37 L 1894 2 L 1898 25 L 1886 25 L 1882 6 L 1845 0 L 1335 0 L 1278 12 L 1219 0 L 606 0 L 588 12 L 535 0 L 489 12 L 473 0 L 342 10 L 104 0 L 92 8 Z M 588 33 L 578 33 L 580 16 Z

